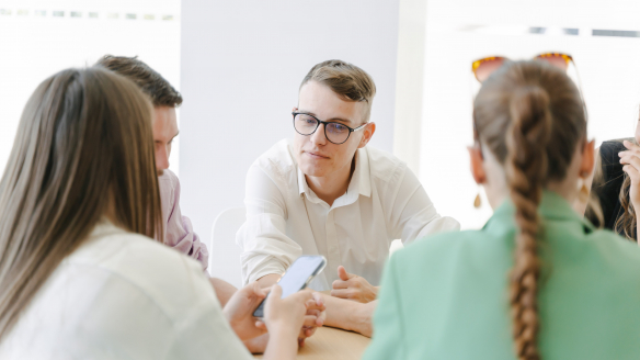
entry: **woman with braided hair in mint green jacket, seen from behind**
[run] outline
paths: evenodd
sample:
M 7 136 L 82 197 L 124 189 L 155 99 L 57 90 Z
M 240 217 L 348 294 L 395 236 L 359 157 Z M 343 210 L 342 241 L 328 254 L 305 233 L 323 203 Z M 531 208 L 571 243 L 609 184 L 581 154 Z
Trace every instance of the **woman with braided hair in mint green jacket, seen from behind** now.
M 364 359 L 640 359 L 640 249 L 571 207 L 594 165 L 573 81 L 507 63 L 473 126 L 471 172 L 494 214 L 393 254 Z

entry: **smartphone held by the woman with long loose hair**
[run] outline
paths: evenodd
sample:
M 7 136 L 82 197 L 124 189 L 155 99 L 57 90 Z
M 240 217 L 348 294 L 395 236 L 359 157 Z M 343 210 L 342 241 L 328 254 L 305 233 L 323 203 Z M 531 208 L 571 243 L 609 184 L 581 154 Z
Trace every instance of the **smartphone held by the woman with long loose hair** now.
M 327 259 L 321 255 L 302 255 L 297 258 L 277 282 L 283 288 L 282 299 L 307 288 L 309 282 L 322 272 L 325 265 Z M 268 295 L 266 296 L 268 297 Z M 258 308 L 253 312 L 253 316 L 264 316 L 264 302 L 266 302 L 266 297 L 258 305 Z

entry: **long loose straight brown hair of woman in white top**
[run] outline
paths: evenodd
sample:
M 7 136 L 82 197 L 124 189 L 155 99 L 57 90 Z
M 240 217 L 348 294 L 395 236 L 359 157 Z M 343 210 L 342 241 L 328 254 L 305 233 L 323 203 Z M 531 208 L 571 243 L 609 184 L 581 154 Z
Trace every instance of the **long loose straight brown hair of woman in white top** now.
M 162 234 L 155 164 L 151 104 L 132 81 L 68 69 L 37 87 L 0 181 L 0 339 L 107 207 L 128 232 Z

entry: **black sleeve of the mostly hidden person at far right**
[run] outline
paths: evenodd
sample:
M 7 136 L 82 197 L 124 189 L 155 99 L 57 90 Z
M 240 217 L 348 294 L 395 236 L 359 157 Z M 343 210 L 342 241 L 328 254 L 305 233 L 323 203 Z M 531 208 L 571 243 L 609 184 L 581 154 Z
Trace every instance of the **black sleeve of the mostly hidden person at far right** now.
M 591 187 L 591 191 L 599 200 L 603 210 L 604 224 L 602 225 L 608 229 L 614 228 L 620 207 L 619 194 L 625 181 L 625 172 L 618 153 L 625 149 L 621 139 L 602 144 L 599 148 L 601 168 L 596 169 Z M 586 216 L 592 223 L 599 223 L 592 212 L 587 212 Z

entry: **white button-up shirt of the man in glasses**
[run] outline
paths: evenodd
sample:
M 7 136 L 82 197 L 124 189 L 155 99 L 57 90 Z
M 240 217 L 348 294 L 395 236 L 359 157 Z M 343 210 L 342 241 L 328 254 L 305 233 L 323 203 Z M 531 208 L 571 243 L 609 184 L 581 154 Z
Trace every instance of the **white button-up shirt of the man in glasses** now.
M 307 185 L 292 142 L 282 140 L 249 169 L 244 203 L 247 222 L 236 237 L 244 283 L 282 274 L 305 254 L 328 260 L 315 290 L 331 289 L 341 265 L 378 285 L 393 239 L 460 228 L 436 212 L 404 162 L 369 146 L 356 151 L 347 191 L 329 206 Z

